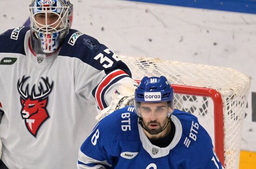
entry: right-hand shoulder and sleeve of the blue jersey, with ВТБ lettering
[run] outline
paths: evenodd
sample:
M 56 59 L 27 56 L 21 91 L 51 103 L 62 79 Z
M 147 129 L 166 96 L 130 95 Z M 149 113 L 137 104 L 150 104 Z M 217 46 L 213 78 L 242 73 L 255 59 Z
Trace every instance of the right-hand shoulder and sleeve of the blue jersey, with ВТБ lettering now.
M 182 123 L 182 138 L 174 152 L 179 154 L 177 163 L 184 169 L 222 169 L 208 132 L 198 119 L 189 113 L 175 110 Z

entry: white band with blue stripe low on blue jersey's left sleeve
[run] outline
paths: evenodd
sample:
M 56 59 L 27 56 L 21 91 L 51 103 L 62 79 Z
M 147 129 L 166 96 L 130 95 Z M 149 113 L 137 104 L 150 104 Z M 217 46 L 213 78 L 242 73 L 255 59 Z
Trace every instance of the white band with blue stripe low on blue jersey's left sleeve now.
M 106 160 L 104 161 L 99 161 L 99 160 L 95 160 L 87 155 L 85 155 L 83 152 L 81 152 L 81 150 L 79 150 L 79 154 L 78 154 L 78 166 L 86 166 L 88 168 L 88 165 L 86 164 L 103 164 L 103 165 L 107 165 L 109 167 L 112 167 L 111 164 L 109 164 Z M 99 166 L 101 168 L 92 168 L 92 169 L 105 169 L 104 166 L 102 165 L 95 165 L 94 167 Z M 84 169 L 81 167 L 81 169 Z

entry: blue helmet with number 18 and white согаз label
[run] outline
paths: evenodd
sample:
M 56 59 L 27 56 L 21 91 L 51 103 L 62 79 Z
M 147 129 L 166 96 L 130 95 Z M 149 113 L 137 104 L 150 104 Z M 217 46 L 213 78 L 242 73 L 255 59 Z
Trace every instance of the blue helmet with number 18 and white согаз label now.
M 135 89 L 135 110 L 137 115 L 141 117 L 138 111 L 140 102 L 158 103 L 168 102 L 168 106 L 174 110 L 174 90 L 170 82 L 164 76 L 160 77 L 143 77 L 138 88 Z M 172 112 L 168 113 L 170 116 Z

